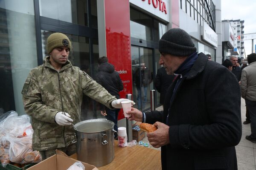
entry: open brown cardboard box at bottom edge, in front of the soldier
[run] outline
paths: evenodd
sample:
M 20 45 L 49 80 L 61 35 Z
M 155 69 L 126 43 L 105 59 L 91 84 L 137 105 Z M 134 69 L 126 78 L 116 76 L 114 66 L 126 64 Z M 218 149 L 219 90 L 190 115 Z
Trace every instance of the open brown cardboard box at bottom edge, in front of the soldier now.
M 71 165 L 73 165 L 77 160 L 72 159 L 61 151 L 56 151 L 57 154 L 51 156 L 44 161 L 30 167 L 27 170 L 67 170 Z M 82 162 L 85 170 L 99 170 L 93 165 L 86 164 Z

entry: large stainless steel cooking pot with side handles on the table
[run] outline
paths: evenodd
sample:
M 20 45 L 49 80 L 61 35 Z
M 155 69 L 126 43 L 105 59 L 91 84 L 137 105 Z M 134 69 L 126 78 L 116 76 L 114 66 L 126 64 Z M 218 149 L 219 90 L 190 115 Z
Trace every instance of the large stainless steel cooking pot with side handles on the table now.
M 79 122 L 76 127 L 77 159 L 102 167 L 114 159 L 114 123 L 107 119 Z

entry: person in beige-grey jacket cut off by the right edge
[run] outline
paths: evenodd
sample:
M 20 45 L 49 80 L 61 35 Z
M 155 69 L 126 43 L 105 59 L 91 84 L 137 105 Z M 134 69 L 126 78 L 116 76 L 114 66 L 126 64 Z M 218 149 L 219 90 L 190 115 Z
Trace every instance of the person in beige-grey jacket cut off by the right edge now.
M 242 70 L 241 96 L 250 114 L 251 134 L 245 139 L 256 143 L 256 54 L 248 55 L 248 66 Z

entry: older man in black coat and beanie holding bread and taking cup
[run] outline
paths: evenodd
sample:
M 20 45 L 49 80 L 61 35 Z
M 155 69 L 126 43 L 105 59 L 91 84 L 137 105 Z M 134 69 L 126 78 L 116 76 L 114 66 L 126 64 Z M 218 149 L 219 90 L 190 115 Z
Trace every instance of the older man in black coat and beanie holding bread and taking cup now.
M 237 170 L 241 139 L 239 83 L 227 68 L 197 54 L 186 31 L 172 28 L 159 40 L 160 64 L 176 75 L 163 111 L 132 108 L 129 120 L 154 124 L 148 133 L 161 148 L 163 170 Z

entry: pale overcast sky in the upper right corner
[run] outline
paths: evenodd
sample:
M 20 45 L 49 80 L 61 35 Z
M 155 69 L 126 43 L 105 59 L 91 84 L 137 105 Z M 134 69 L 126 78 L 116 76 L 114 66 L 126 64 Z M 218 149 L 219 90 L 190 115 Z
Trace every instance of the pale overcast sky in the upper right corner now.
M 244 20 L 244 34 L 256 33 L 255 14 L 256 0 L 221 0 L 221 20 Z M 246 55 L 251 54 L 251 40 L 244 41 L 244 49 Z

